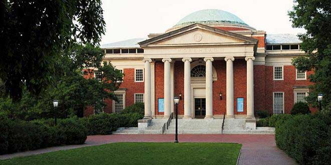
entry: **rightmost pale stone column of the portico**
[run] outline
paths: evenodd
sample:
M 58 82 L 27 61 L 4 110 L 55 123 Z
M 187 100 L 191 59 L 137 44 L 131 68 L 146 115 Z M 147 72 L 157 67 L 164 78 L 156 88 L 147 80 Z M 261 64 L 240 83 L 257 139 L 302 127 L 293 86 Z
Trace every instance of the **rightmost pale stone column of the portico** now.
M 247 61 L 247 116 L 246 118 L 254 117 L 254 70 L 253 60 L 254 56 L 245 57 Z

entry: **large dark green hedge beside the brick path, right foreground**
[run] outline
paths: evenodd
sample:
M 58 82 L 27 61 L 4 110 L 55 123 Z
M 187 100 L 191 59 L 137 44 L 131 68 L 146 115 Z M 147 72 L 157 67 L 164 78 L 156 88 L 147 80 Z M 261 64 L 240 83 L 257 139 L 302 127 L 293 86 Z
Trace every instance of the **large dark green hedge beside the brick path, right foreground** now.
M 282 117 L 276 122 L 277 146 L 300 164 L 331 162 L 331 111 Z

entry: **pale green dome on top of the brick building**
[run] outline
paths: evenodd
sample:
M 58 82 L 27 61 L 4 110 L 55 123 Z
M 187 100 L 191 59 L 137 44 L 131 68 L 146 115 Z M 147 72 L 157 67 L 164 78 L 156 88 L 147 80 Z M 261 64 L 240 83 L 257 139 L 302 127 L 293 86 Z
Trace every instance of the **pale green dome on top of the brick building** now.
M 248 26 L 238 16 L 220 9 L 203 9 L 193 12 L 181 19 L 176 25 L 192 23 L 230 23 Z

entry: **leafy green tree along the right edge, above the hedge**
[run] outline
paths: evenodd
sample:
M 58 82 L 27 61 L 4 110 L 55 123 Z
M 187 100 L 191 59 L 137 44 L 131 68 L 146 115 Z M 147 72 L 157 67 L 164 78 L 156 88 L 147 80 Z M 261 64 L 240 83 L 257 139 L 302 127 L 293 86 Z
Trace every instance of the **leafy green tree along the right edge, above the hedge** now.
M 318 93 L 324 94 L 322 105 L 331 109 L 331 1 L 294 0 L 293 10 L 288 12 L 293 27 L 303 27 L 306 33 L 299 34 L 300 48 L 307 55 L 296 57 L 292 64 L 298 70 L 314 70 L 310 75 L 311 92 L 309 103 L 316 104 Z

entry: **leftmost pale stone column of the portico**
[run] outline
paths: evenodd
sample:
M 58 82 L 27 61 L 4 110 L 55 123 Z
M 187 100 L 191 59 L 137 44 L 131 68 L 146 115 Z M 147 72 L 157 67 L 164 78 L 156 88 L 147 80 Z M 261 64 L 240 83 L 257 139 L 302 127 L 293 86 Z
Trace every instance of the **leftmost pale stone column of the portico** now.
M 151 59 L 147 58 L 147 59 L 143 59 L 144 63 L 145 63 L 145 80 L 144 80 L 144 87 L 145 87 L 145 116 L 144 119 L 149 119 L 151 118 L 151 87 L 150 87 L 150 83 L 151 83 L 151 78 L 150 78 L 150 62 Z

